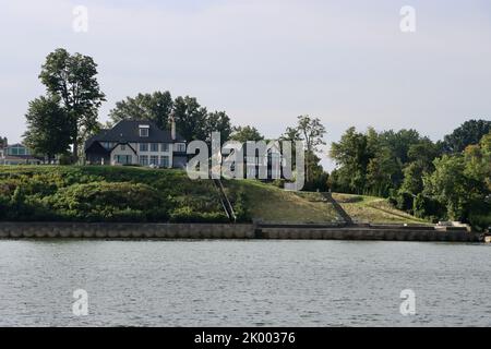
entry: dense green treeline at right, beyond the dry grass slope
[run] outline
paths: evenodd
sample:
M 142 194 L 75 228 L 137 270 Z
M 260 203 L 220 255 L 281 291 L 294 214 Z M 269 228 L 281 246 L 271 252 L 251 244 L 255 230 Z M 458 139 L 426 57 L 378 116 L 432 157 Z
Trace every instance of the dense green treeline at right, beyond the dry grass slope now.
M 388 197 L 431 220 L 491 225 L 491 121 L 470 120 L 443 141 L 415 130 L 348 129 L 332 143 L 333 191 Z

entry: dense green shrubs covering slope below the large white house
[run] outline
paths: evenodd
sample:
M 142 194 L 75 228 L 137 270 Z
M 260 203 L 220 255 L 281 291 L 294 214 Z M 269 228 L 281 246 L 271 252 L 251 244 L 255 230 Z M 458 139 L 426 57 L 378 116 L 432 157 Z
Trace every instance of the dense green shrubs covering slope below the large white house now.
M 226 221 L 212 181 L 131 167 L 2 167 L 1 220 Z

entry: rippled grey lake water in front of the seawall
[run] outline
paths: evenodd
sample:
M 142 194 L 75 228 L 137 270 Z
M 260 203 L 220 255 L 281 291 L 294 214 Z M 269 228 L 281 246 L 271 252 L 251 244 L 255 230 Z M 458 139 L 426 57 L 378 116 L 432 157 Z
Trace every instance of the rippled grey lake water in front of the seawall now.
M 0 325 L 490 326 L 490 281 L 482 244 L 0 241 Z

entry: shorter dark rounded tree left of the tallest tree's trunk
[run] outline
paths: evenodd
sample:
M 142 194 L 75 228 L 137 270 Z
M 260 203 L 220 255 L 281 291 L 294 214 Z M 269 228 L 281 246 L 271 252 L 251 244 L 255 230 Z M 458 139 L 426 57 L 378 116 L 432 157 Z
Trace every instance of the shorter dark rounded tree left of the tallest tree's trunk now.
M 25 144 L 35 154 L 46 155 L 48 160 L 51 160 L 55 155 L 69 149 L 71 120 L 60 106 L 59 97 L 34 99 L 29 103 L 25 118 L 27 119 Z

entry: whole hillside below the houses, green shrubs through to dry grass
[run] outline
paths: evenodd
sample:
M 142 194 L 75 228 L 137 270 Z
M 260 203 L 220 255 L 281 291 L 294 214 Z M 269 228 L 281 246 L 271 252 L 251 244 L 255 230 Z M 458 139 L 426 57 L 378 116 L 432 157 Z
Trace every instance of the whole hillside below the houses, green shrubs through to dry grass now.
M 224 181 L 240 221 L 328 222 L 340 217 L 321 193 L 253 180 Z M 421 222 L 385 200 L 334 194 L 358 221 Z M 0 166 L 0 220 L 228 221 L 211 180 L 135 167 Z

